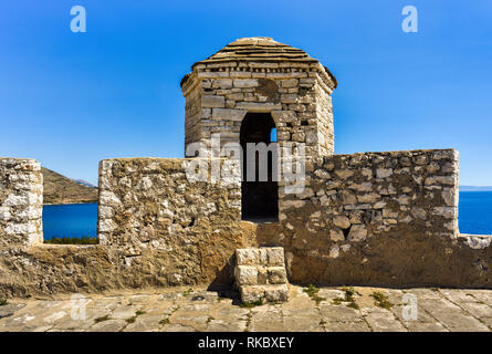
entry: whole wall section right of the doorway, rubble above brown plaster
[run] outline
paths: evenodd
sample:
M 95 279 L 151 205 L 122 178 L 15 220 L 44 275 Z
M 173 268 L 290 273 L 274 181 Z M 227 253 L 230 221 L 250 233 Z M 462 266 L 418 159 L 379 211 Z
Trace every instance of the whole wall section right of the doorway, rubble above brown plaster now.
M 459 236 L 457 152 L 334 155 L 306 169 L 260 240 L 285 248 L 291 281 L 492 287 L 491 238 Z

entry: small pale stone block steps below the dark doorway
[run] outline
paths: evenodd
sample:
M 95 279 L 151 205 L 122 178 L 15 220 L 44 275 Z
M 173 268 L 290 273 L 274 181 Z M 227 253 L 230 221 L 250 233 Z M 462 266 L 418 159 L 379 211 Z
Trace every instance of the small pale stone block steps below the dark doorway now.
M 289 300 L 282 247 L 237 249 L 235 260 L 235 285 L 243 303 Z

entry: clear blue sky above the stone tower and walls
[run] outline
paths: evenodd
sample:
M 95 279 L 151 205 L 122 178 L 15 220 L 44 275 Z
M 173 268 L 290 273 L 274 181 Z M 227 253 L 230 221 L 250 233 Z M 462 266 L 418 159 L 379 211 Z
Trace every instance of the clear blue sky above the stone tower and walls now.
M 492 185 L 490 0 L 1 1 L 0 156 L 92 183 L 103 158 L 182 157 L 180 79 L 257 35 L 335 74 L 337 154 L 454 147 L 460 183 Z

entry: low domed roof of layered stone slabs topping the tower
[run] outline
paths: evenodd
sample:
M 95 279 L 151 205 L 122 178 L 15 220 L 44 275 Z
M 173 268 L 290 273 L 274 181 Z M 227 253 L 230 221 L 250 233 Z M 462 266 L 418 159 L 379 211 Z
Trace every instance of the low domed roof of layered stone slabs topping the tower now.
M 316 59 L 311 58 L 301 49 L 293 48 L 274 41 L 269 37 L 250 37 L 241 38 L 229 43 L 217 53 L 210 55 L 206 60 L 196 62 L 191 65 L 191 71 L 197 67 L 209 66 L 228 66 L 231 62 L 283 62 L 287 63 L 306 63 L 310 65 L 320 65 L 325 71 L 326 76 L 332 82 L 332 88 L 337 86 L 335 76 L 326 66 L 320 64 Z M 181 80 L 181 86 L 190 74 L 185 75 Z

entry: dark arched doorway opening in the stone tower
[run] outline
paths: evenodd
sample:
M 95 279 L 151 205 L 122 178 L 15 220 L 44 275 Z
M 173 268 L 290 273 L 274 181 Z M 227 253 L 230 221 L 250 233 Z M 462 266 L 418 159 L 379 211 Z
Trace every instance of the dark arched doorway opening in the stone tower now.
M 278 221 L 279 220 L 279 184 L 273 174 L 273 153 L 268 152 L 266 180 L 260 180 L 259 165 L 260 154 L 254 156 L 254 176 L 248 175 L 248 143 L 272 143 L 272 129 L 275 122 L 270 113 L 248 113 L 241 123 L 240 143 L 242 147 L 242 219 L 250 221 Z M 276 129 L 275 129 L 276 131 Z M 275 139 L 276 140 L 276 139 Z M 251 162 L 250 162 L 251 163 Z M 264 168 L 265 166 L 263 166 Z

